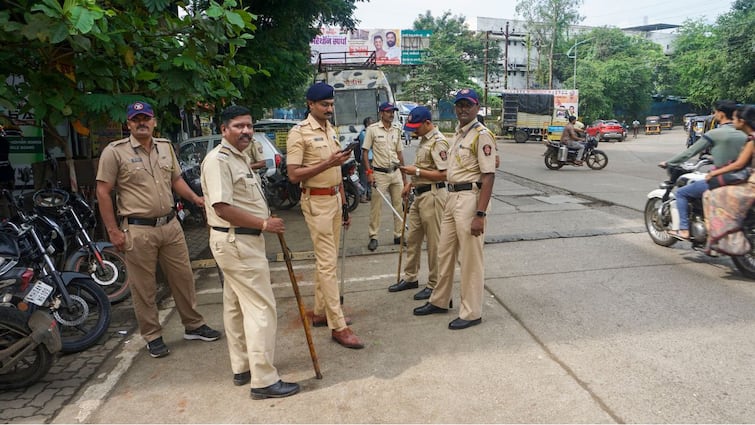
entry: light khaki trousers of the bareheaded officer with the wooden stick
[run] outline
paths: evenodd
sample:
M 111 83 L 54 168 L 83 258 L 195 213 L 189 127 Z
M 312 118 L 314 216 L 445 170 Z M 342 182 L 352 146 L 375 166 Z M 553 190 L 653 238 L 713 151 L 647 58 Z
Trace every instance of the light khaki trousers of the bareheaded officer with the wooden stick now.
M 252 388 L 280 379 L 273 365 L 278 315 L 265 238 L 210 231 L 210 250 L 223 271 L 223 325 L 233 373 L 250 371 Z

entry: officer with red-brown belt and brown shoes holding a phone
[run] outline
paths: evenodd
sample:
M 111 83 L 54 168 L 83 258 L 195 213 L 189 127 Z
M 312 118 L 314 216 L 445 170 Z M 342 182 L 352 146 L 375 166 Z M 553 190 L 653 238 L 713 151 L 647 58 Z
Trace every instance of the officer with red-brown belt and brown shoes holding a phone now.
M 330 123 L 334 95 L 333 87 L 322 82 L 307 90 L 309 115 L 288 132 L 286 163 L 289 179 L 301 182 L 301 210 L 315 251 L 312 324 L 327 323 L 336 342 L 348 348 L 363 348 L 343 315 L 336 277 L 341 226 L 351 223 L 348 212 L 344 213 L 346 197 L 341 180 L 341 164 L 349 159 L 351 151 L 341 150 Z

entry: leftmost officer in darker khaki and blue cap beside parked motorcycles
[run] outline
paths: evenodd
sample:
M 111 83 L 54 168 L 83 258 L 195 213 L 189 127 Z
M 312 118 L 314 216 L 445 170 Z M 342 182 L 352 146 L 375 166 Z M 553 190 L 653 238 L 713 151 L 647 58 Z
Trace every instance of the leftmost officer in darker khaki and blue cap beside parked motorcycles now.
M 215 341 L 220 332 L 205 324 L 196 310 L 194 274 L 181 224 L 173 210 L 173 192 L 199 206 L 204 199 L 183 178 L 170 140 L 152 137 L 157 125 L 152 106 L 135 102 L 127 111 L 131 136 L 102 150 L 97 170 L 97 201 L 110 241 L 125 252 L 131 281 L 131 299 L 139 331 L 152 357 L 170 353 L 158 319 L 157 261 L 186 331 L 184 339 Z M 110 198 L 116 190 L 118 216 Z

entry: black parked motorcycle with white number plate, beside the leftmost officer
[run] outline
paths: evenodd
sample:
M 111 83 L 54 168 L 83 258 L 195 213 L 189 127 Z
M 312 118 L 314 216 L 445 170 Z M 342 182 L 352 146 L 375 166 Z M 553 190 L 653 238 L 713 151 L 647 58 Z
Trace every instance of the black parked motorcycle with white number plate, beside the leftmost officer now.
M 49 312 L 58 322 L 65 353 L 85 350 L 105 334 L 110 325 L 111 308 L 105 291 L 91 277 L 77 272 L 59 271 L 52 254 L 63 231 L 54 221 L 38 214 L 27 214 L 9 192 L 3 195 L 18 211 L 17 223 L 5 222 L 0 232 L 15 238 L 19 264 L 33 272 L 27 290 L 13 286 L 0 289 L 0 299 L 19 310 Z M 0 252 L 7 259 L 7 253 Z

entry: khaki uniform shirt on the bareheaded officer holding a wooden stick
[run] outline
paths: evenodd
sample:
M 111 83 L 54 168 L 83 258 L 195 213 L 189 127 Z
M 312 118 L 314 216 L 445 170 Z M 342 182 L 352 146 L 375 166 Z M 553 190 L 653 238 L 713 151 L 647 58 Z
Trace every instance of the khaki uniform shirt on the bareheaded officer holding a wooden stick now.
M 247 158 L 224 138 L 202 161 L 202 191 L 210 226 L 233 227 L 215 213 L 213 205 L 218 203 L 232 205 L 262 219 L 270 216 L 259 180 L 249 168 Z

